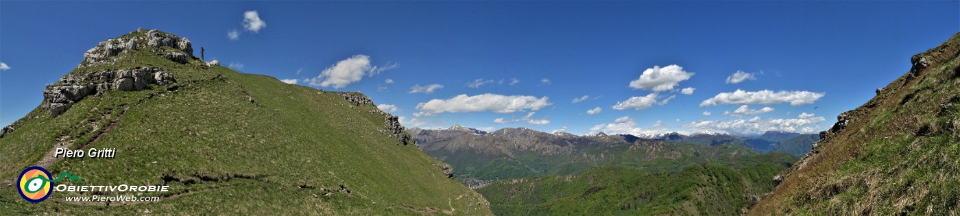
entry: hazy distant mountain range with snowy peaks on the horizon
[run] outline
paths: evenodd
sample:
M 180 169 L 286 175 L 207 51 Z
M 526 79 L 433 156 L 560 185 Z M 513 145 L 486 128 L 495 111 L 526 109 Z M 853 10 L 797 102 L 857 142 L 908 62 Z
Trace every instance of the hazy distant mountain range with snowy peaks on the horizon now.
M 678 171 L 692 164 L 774 150 L 803 156 L 817 140 L 810 138 L 816 134 L 794 132 L 766 132 L 756 137 L 671 132 L 639 137 L 604 132 L 548 133 L 526 128 L 483 132 L 460 125 L 407 132 L 414 136 L 424 153 L 449 163 L 460 180 L 570 175 L 602 165 L 653 172 Z M 798 137 L 807 138 L 793 140 Z M 668 160 L 670 162 L 666 162 Z

